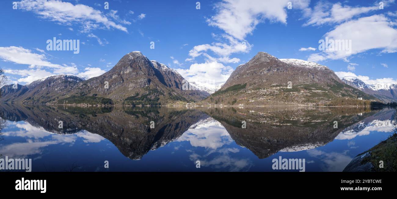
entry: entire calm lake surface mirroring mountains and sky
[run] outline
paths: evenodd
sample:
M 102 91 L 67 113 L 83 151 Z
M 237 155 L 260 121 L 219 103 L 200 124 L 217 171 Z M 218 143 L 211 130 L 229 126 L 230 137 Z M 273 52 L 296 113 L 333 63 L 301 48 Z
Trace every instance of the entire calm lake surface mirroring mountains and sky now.
M 33 171 L 297 171 L 273 170 L 280 156 L 305 159 L 306 172 L 342 171 L 385 140 L 396 122 L 391 108 L 2 104 L 0 111 L 2 158 L 32 159 Z

